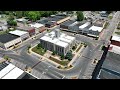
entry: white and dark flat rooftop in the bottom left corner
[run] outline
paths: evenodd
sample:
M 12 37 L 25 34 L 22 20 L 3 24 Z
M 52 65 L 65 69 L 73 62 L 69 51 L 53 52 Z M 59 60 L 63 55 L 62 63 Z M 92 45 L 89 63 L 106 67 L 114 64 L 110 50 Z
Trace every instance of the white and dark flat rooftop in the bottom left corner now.
M 33 75 L 24 72 L 13 64 L 1 63 L 0 79 L 37 79 Z

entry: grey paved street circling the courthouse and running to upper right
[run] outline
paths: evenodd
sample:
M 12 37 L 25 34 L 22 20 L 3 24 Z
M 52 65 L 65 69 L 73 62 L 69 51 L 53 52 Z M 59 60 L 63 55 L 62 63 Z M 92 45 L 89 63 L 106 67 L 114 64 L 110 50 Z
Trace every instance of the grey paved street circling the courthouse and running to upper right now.
M 35 44 L 39 43 L 39 38 L 44 35 L 43 33 L 39 34 L 35 39 L 30 39 L 24 42 L 20 47 L 14 49 L 13 51 L 0 50 L 0 53 L 8 55 L 10 58 L 15 59 L 16 61 L 26 64 L 30 67 L 33 67 L 38 62 L 40 62 L 33 68 L 32 73 L 41 79 L 66 79 L 76 75 L 79 79 L 83 79 L 84 76 L 92 74 L 94 65 L 92 65 L 91 62 L 95 59 L 95 55 L 99 54 L 98 52 L 100 50 L 100 47 L 110 39 L 112 33 L 114 32 L 114 29 L 116 28 L 116 25 L 118 24 L 118 18 L 120 18 L 119 16 L 120 11 L 114 15 L 109 27 L 104 31 L 102 38 L 100 38 L 98 41 L 84 35 L 75 35 L 76 40 L 85 42 L 87 44 L 87 47 L 83 51 L 82 56 L 76 59 L 76 62 L 74 63 L 75 66 L 70 70 L 59 70 L 54 65 L 46 61 L 40 62 L 39 58 L 34 58 L 35 56 L 27 54 L 28 45 L 34 46 Z M 55 28 L 59 28 L 59 26 Z

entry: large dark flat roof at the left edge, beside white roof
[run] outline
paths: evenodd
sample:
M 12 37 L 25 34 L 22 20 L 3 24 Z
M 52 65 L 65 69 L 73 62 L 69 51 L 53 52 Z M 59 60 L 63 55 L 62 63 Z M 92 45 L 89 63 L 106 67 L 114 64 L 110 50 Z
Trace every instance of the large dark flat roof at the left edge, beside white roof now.
M 19 36 L 17 36 L 17 35 L 2 34 L 2 35 L 0 35 L 0 42 L 7 43 L 7 42 L 12 41 L 12 40 L 17 39 L 17 38 L 19 38 Z

